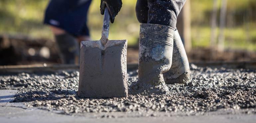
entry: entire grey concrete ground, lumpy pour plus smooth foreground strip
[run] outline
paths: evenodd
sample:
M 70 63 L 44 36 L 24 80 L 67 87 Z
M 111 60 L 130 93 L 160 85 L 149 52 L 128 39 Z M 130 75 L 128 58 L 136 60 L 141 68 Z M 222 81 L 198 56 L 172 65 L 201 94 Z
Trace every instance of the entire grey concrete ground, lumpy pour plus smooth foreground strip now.
M 7 103 L 9 107 L 0 105 L 3 109 L 0 119 L 8 122 L 8 119 L 16 121 L 13 117 L 29 117 L 12 115 L 16 112 L 12 108 L 18 107 L 21 109 L 17 111 L 34 109 L 34 115 L 37 111 L 43 112 L 42 118 L 57 117 L 51 122 L 63 121 L 70 115 L 73 119 L 80 117 L 81 121 L 92 118 L 88 122 L 164 122 L 163 119 L 167 122 L 255 122 L 255 70 L 203 68 L 192 64 L 191 82 L 167 85 L 170 95 L 131 95 L 130 87 L 137 81 L 138 73 L 137 70 L 128 70 L 128 96 L 122 98 L 79 98 L 76 95 L 78 77 L 78 71 L 1 74 L 0 88 L 18 91 L 10 94 L 14 95 L 10 103 L 7 102 L 11 96 L 1 95 L 0 104 Z M 17 104 L 23 106 L 15 107 Z M 40 116 L 35 118 L 40 119 Z M 132 120 L 134 118 L 138 120 Z M 47 122 L 46 119 L 42 121 Z

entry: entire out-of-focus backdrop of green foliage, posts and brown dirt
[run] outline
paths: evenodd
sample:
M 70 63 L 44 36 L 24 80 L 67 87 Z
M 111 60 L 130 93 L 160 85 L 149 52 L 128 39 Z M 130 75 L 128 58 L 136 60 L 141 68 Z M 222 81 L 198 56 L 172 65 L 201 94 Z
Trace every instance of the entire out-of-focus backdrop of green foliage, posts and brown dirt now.
M 0 0 L 0 65 L 60 63 L 50 28 L 43 25 L 49 0 Z M 92 0 L 88 27 L 101 37 L 100 0 Z M 123 7 L 110 26 L 109 39 L 127 39 L 129 63 L 138 62 L 136 0 Z M 256 0 L 187 0 L 177 28 L 190 62 L 255 61 Z

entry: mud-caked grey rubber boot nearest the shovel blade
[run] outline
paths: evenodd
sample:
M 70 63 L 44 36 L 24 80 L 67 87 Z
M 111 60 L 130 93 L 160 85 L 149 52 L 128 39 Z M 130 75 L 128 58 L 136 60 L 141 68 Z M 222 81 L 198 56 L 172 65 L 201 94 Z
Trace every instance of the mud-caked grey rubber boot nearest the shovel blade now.
M 139 79 L 132 85 L 140 94 L 168 94 L 163 73 L 172 65 L 174 29 L 159 24 L 141 24 Z M 133 93 L 133 92 L 131 92 Z

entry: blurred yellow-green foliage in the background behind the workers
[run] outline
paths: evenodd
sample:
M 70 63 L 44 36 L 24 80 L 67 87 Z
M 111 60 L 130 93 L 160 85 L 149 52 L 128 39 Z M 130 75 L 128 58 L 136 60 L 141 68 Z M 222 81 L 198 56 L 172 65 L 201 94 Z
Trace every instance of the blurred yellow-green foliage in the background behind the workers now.
M 137 0 L 123 0 L 123 7 L 110 26 L 110 39 L 127 39 L 137 43 L 139 22 L 135 14 Z M 219 6 L 220 7 L 220 1 Z M 53 39 L 51 30 L 43 25 L 44 11 L 49 0 L 0 0 L 0 33 L 24 34 Z M 93 40 L 99 40 L 103 16 L 100 0 L 93 0 L 88 26 Z M 209 47 L 212 0 L 191 0 L 192 46 Z M 228 0 L 225 47 L 256 50 L 256 0 Z M 239 24 L 238 24 L 239 23 Z

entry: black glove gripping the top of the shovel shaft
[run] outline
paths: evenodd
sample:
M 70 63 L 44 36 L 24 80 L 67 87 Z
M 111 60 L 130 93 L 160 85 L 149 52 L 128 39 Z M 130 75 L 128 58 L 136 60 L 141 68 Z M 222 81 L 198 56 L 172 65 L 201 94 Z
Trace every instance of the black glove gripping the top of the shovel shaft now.
M 104 15 L 106 3 L 108 5 L 108 11 L 110 13 L 111 23 L 114 23 L 117 13 L 121 10 L 122 0 L 101 0 L 100 13 Z

